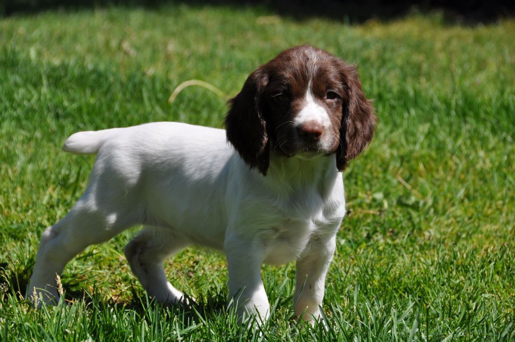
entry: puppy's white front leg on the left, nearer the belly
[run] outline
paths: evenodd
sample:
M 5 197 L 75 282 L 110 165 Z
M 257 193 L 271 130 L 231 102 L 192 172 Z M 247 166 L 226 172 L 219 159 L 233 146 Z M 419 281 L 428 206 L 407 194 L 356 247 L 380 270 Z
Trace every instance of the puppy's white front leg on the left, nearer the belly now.
M 248 240 L 231 234 L 226 237 L 224 249 L 229 268 L 229 295 L 236 306 L 240 320 L 244 315 L 257 315 L 258 323 L 265 322 L 270 305 L 261 279 L 263 250 Z

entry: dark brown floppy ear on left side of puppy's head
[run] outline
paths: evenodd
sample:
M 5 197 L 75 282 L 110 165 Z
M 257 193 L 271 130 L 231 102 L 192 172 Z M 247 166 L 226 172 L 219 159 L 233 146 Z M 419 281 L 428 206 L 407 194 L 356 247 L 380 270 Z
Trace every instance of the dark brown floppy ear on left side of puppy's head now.
M 270 140 L 261 96 L 267 84 L 268 76 L 261 68 L 250 74 L 242 91 L 229 100 L 224 121 L 227 140 L 250 168 L 257 167 L 265 176 L 270 165 Z

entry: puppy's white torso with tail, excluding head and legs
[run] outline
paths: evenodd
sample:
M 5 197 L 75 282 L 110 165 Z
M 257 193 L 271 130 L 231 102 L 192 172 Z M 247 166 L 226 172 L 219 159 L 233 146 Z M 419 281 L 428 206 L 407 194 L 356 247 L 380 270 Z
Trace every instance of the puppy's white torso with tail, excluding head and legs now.
M 345 213 L 334 158 L 272 158 L 263 177 L 249 172 L 222 129 L 151 123 L 76 133 L 64 149 L 99 149 L 80 203 L 104 211 L 113 227 L 163 227 L 186 244 L 218 250 L 234 233 L 262 249 L 269 264 L 300 257 L 312 235 L 334 235 Z

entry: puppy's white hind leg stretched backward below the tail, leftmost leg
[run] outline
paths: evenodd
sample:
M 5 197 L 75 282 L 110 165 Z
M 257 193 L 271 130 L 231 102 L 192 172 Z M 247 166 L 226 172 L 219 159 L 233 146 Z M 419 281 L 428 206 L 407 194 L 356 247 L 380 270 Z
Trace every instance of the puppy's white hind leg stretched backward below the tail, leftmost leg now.
M 41 296 L 48 304 L 57 303 L 57 276 L 75 255 L 134 224 L 132 218 L 113 207 L 116 206 L 99 209 L 95 196 L 87 191 L 63 219 L 43 232 L 27 288 L 27 298 L 36 306 L 41 305 Z

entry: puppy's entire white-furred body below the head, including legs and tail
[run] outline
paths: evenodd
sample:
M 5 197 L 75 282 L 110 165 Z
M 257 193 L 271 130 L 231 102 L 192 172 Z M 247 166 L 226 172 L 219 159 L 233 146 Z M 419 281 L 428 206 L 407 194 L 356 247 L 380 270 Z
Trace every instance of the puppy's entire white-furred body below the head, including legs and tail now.
M 267 176 L 249 169 L 222 129 L 151 123 L 73 134 L 64 149 L 98 153 L 90 183 L 73 209 L 41 238 L 28 295 L 58 299 L 56 275 L 77 253 L 145 225 L 125 254 L 150 296 L 182 301 L 163 261 L 182 248 L 224 251 L 230 295 L 240 314 L 269 315 L 262 263 L 297 262 L 295 314 L 320 315 L 325 274 L 345 214 L 334 156 L 273 154 Z

